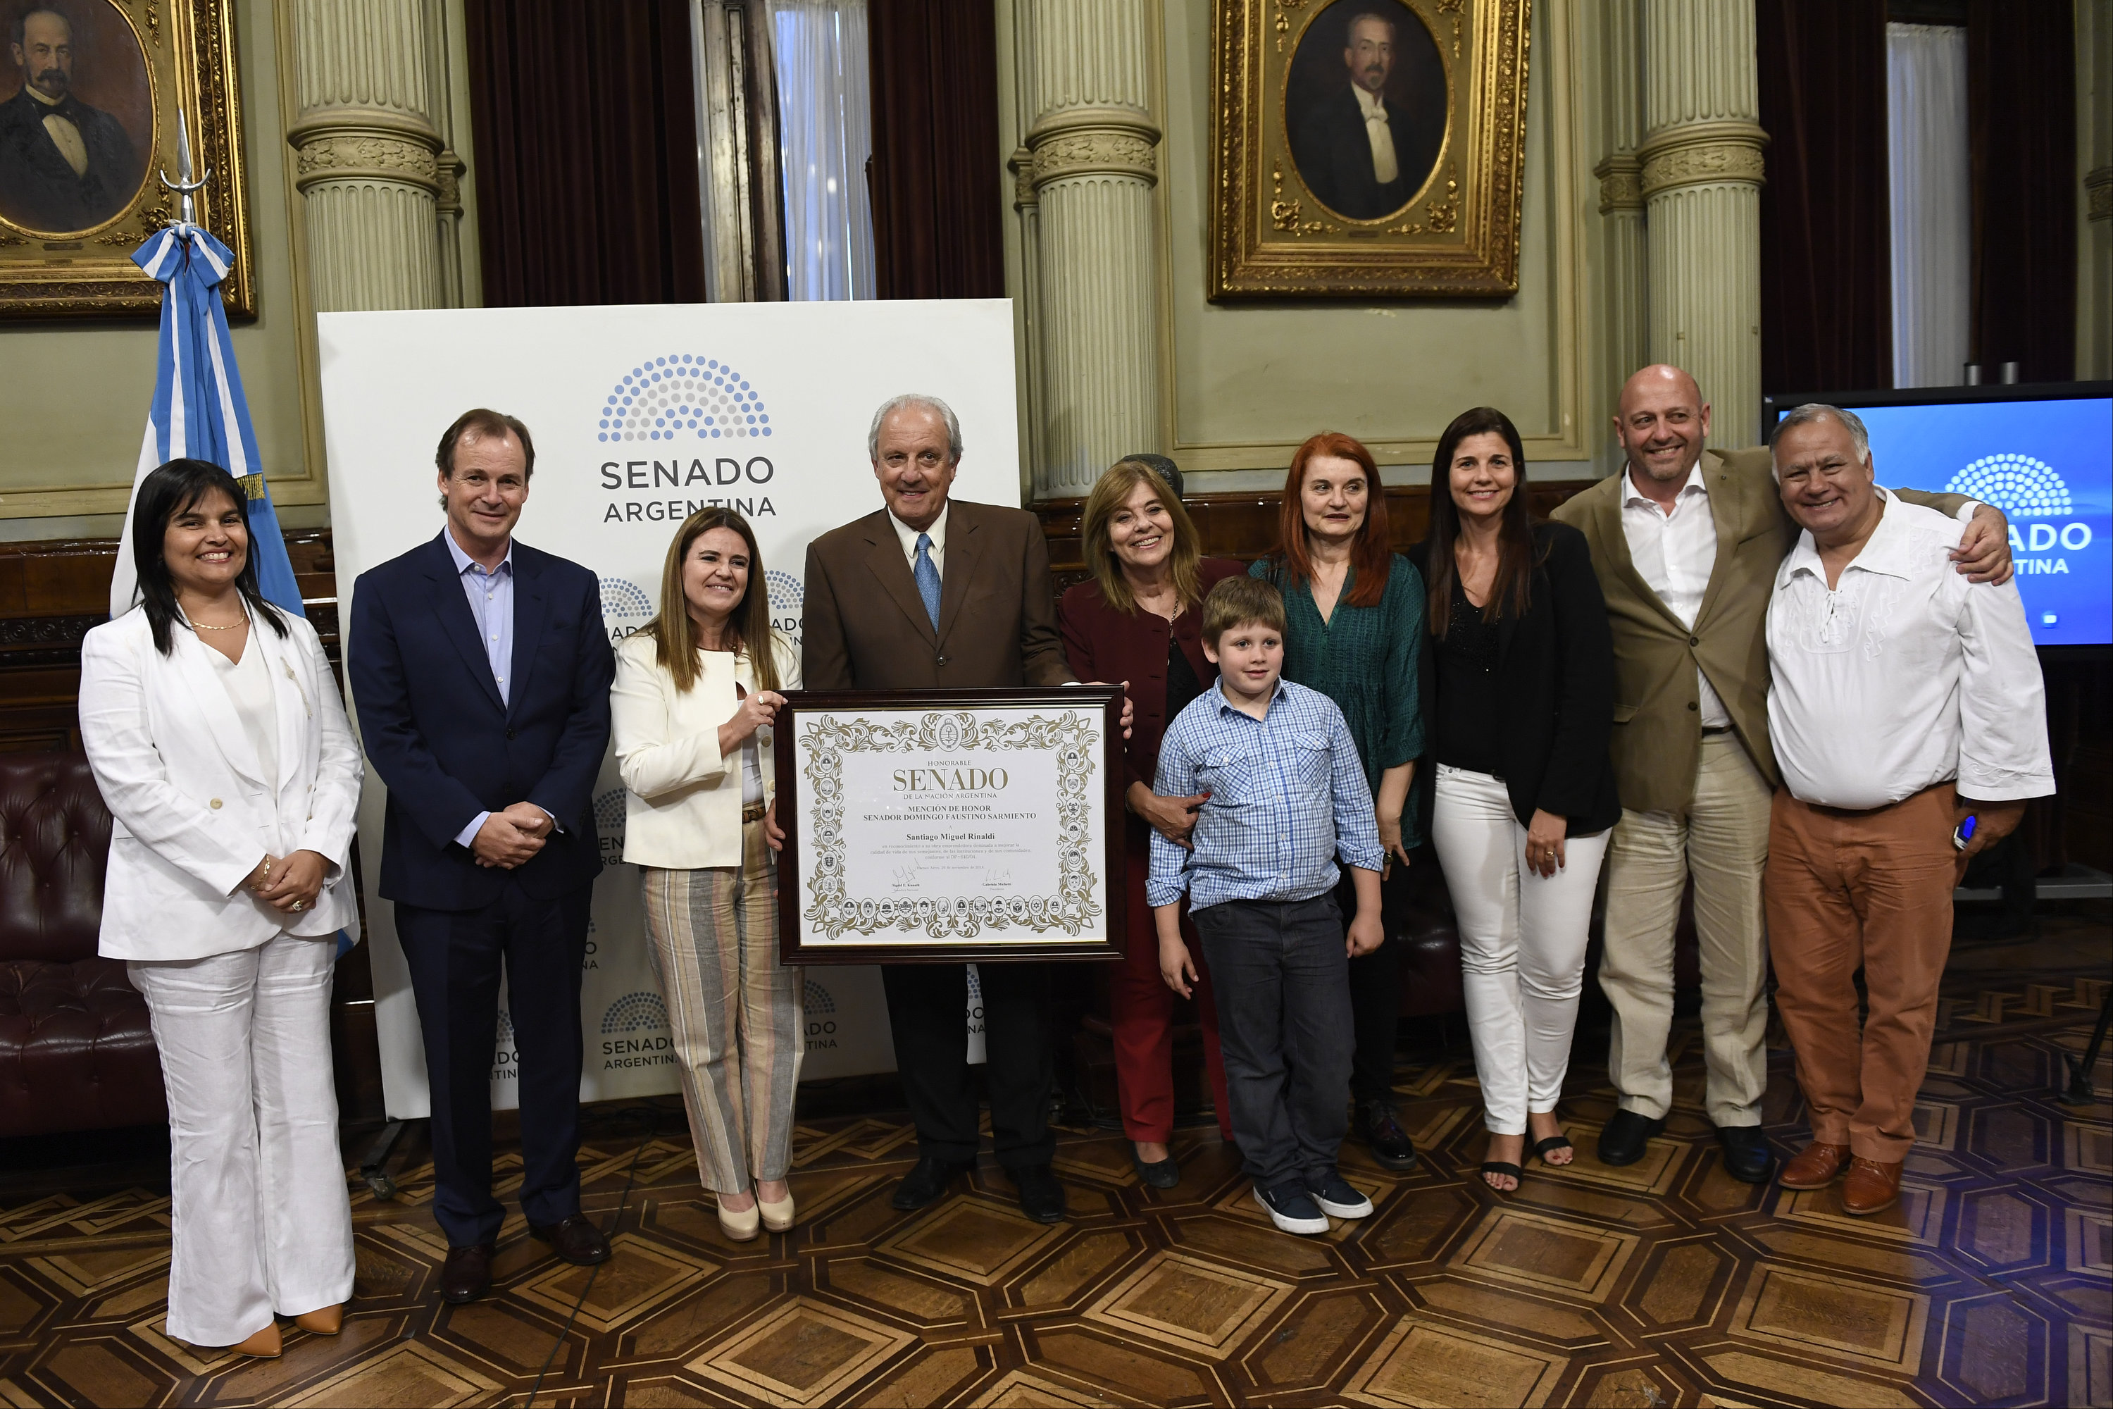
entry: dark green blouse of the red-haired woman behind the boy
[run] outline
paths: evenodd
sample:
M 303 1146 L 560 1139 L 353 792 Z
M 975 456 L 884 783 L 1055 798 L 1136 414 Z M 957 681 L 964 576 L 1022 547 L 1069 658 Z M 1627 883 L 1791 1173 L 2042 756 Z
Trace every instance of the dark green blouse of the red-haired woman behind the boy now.
M 1365 784 L 1380 794 L 1380 775 L 1424 752 L 1422 697 L 1416 661 L 1422 651 L 1424 579 L 1401 553 L 1386 572 L 1386 591 L 1373 606 L 1350 606 L 1357 572 L 1344 577 L 1335 615 L 1321 621 L 1308 583 L 1278 579 L 1270 562 L 1247 570 L 1285 596 L 1285 678 L 1335 701 L 1365 763 Z M 1401 845 L 1414 847 L 1416 807 L 1403 803 Z

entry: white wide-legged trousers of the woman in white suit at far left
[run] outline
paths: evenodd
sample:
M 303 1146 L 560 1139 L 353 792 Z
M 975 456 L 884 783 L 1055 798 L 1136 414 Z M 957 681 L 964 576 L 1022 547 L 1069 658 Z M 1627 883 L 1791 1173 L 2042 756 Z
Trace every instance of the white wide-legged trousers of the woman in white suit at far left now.
M 235 1346 L 353 1295 L 330 1069 L 336 936 L 129 963 L 169 1090 L 169 1335 Z

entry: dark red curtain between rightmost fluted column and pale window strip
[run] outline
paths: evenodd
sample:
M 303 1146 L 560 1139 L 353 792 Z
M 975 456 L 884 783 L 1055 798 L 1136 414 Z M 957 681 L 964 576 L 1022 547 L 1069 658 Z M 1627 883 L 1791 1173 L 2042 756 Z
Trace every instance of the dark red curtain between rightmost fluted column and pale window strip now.
M 1760 0 L 1760 384 L 1893 384 L 1885 0 Z

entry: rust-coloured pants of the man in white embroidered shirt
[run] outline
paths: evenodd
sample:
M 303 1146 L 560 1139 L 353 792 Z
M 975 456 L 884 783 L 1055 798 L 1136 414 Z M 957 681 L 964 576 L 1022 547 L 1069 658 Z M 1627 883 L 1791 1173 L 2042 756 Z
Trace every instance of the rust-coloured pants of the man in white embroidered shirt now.
M 1914 1145 L 1914 1092 L 1952 951 L 1957 858 L 1950 784 L 1872 811 L 1777 790 L 1769 953 L 1815 1141 L 1883 1164 Z M 1870 997 L 1862 1033 L 1857 967 Z

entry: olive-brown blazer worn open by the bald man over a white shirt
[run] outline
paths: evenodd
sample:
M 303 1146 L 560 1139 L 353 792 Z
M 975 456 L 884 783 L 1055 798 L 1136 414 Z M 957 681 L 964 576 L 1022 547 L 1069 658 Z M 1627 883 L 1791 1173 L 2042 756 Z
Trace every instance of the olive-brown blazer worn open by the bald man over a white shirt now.
M 1701 763 L 1701 691 L 1695 668 L 1724 701 L 1733 731 L 1769 786 L 1769 596 L 1775 570 L 1798 541 L 1798 526 L 1769 473 L 1769 450 L 1703 450 L 1703 482 L 1716 520 L 1718 556 L 1695 627 L 1659 600 L 1629 558 L 1621 528 L 1627 469 L 1574 494 L 1555 520 L 1591 545 L 1593 572 L 1614 630 L 1614 784 L 1629 811 L 1682 811 L 1695 796 Z M 1908 503 L 1957 513 L 1959 494 L 1895 490 Z

